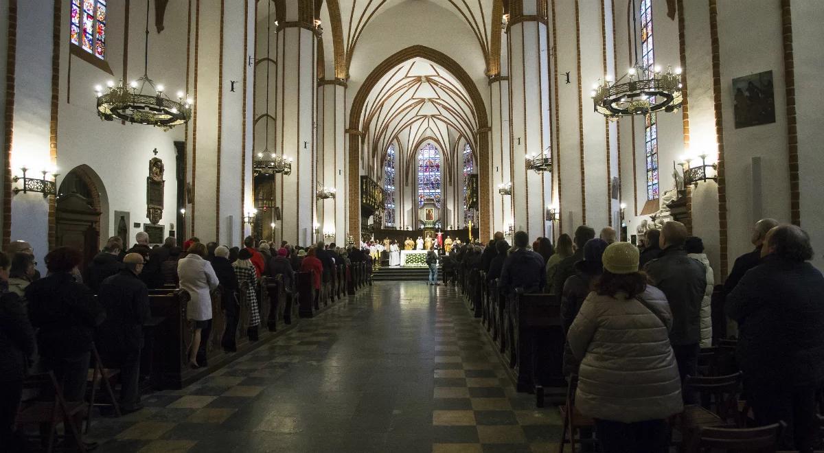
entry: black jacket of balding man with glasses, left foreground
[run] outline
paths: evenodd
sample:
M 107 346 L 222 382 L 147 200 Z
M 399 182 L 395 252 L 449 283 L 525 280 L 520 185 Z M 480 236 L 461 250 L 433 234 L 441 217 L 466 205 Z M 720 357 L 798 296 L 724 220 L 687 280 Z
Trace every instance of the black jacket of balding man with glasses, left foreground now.
M 124 269 L 101 283 L 97 300 L 106 311 L 97 329 L 97 348 L 113 353 L 143 348 L 143 325 L 152 316 L 146 284 Z

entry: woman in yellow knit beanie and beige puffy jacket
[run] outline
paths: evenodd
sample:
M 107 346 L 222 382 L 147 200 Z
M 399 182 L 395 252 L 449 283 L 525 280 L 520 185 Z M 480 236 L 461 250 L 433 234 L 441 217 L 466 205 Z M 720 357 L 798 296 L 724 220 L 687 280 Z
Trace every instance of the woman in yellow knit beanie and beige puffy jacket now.
M 667 298 L 638 272 L 634 245 L 611 244 L 602 261 L 567 337 L 581 361 L 575 405 L 595 419 L 604 453 L 665 453 L 666 418 L 683 410 Z

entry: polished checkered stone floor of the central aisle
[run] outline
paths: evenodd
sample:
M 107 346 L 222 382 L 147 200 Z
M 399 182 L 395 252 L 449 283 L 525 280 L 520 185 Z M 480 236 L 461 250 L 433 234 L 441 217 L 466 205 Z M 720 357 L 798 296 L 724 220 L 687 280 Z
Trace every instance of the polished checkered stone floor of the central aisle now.
M 98 451 L 556 451 L 555 407 L 517 395 L 453 287 L 378 282 L 146 409 Z

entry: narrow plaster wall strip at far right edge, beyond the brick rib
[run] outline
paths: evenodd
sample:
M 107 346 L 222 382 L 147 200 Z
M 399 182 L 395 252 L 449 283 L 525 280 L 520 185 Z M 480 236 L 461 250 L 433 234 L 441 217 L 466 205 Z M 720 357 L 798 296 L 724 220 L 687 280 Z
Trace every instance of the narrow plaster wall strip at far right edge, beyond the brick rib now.
M 817 254 L 813 259 L 824 269 L 824 209 L 821 207 L 824 174 L 824 128 L 818 102 L 824 87 L 818 83 L 824 61 L 824 10 L 817 2 L 796 0 L 791 3 L 793 17 L 793 54 L 795 65 L 795 102 L 798 128 L 798 179 L 801 192 L 801 226 L 812 240 Z

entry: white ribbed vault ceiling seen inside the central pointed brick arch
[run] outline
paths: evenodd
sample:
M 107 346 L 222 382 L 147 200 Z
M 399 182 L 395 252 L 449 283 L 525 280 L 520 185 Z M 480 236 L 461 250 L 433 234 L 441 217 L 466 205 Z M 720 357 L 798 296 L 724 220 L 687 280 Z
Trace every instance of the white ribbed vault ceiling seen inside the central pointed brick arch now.
M 392 142 L 400 160 L 409 160 L 426 138 L 438 142 L 446 164 L 459 142 L 475 150 L 478 118 L 466 89 L 451 73 L 424 58 L 413 58 L 387 72 L 372 88 L 363 108 L 370 161 L 381 166 Z M 452 147 L 453 149 L 449 149 Z

